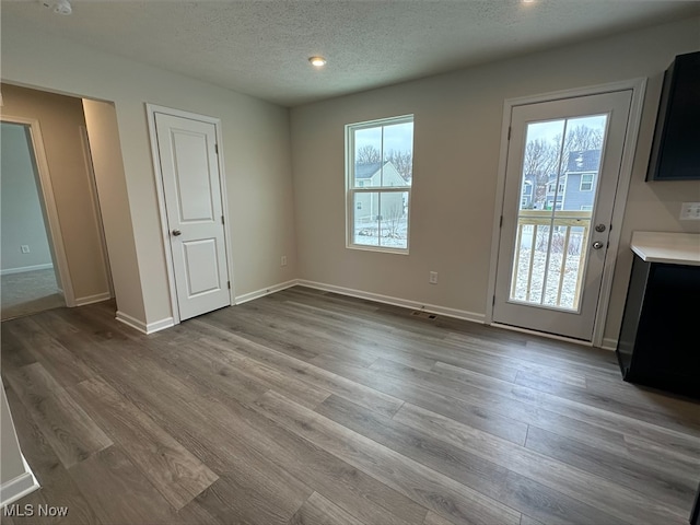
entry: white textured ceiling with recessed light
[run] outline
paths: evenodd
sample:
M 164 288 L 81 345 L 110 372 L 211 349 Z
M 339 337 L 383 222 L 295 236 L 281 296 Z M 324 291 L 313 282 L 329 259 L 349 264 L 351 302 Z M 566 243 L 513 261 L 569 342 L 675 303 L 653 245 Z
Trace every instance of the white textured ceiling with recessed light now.
M 673 0 L 38 0 L 2 2 L 8 24 L 285 106 L 394 84 L 700 14 Z M 12 49 L 3 48 L 3 52 Z M 328 65 L 307 61 L 323 55 Z

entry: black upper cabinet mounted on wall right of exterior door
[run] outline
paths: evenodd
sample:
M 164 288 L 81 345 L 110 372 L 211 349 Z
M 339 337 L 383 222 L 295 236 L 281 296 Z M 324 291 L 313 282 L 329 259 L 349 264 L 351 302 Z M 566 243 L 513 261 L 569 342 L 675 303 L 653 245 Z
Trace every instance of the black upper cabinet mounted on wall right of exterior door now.
M 664 75 L 648 180 L 700 179 L 700 51 L 678 55 Z

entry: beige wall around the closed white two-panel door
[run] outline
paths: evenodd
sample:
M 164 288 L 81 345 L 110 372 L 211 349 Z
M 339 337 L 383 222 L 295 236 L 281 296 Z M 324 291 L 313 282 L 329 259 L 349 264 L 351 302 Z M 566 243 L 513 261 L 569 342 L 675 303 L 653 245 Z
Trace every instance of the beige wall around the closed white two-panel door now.
M 222 119 L 236 295 L 296 277 L 288 109 L 31 27 L 2 27 L 2 78 L 114 102 L 138 259 L 126 271 L 143 298 L 142 314 L 126 314 L 145 324 L 171 316 L 147 102 Z

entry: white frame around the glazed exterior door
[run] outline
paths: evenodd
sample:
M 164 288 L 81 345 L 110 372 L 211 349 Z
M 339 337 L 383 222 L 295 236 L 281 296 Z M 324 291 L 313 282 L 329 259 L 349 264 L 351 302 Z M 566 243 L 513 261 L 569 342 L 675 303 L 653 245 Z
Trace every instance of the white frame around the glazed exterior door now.
M 612 208 L 612 219 L 609 236 L 609 246 L 607 249 L 605 266 L 603 268 L 603 281 L 600 284 L 600 295 L 595 314 L 593 325 L 593 339 L 591 343 L 594 347 L 603 345 L 603 336 L 605 332 L 605 319 L 607 317 L 610 304 L 610 292 L 612 290 L 612 272 L 617 260 L 617 252 L 620 244 L 620 233 L 622 218 L 625 217 L 625 206 L 627 205 L 627 195 L 629 191 L 630 180 L 632 178 L 632 164 L 634 162 L 634 153 L 637 151 L 637 139 L 639 136 L 639 127 L 642 118 L 642 107 L 644 104 L 644 91 L 646 89 L 646 79 L 632 79 L 609 84 L 593 85 L 580 88 L 575 90 L 557 91 L 540 95 L 523 96 L 517 98 L 506 98 L 503 103 L 503 124 L 501 127 L 501 150 L 499 153 L 499 172 L 495 187 L 495 207 L 493 212 L 493 232 L 491 235 L 491 268 L 489 271 L 489 284 L 486 306 L 486 324 L 493 324 L 493 298 L 495 296 L 495 278 L 499 257 L 499 244 L 501 240 L 501 220 L 503 217 L 503 198 L 505 196 L 505 171 L 508 164 L 509 150 L 509 131 L 511 126 L 511 113 L 513 107 L 527 104 L 538 104 L 542 102 L 559 101 L 563 98 L 574 98 L 579 96 L 598 95 L 603 93 L 611 93 L 616 91 L 632 90 L 632 102 L 630 105 L 630 114 L 627 125 L 627 137 L 625 148 L 622 150 L 622 163 L 620 165 L 620 176 L 615 194 L 615 203 Z M 525 330 L 528 331 L 528 330 Z M 558 339 L 567 339 L 557 337 Z M 575 342 L 582 342 L 578 339 L 571 339 Z

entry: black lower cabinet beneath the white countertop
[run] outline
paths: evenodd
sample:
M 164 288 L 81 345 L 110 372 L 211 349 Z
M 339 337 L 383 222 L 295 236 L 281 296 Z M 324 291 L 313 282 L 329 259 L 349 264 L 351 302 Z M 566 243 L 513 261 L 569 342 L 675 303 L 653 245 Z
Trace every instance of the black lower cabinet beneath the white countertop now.
M 634 256 L 617 347 L 625 381 L 700 398 L 700 266 Z

